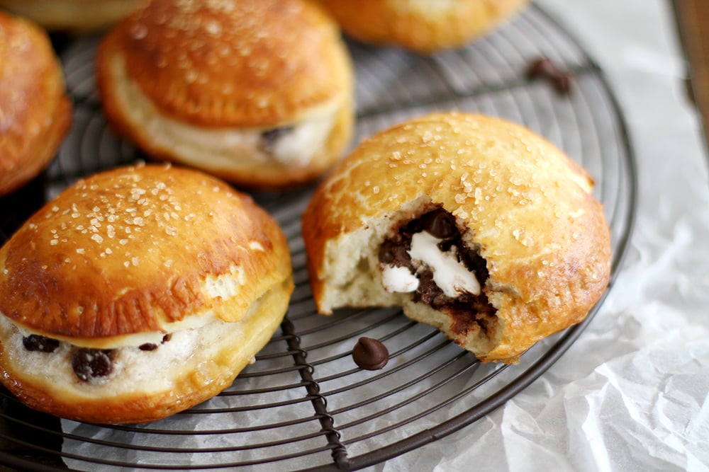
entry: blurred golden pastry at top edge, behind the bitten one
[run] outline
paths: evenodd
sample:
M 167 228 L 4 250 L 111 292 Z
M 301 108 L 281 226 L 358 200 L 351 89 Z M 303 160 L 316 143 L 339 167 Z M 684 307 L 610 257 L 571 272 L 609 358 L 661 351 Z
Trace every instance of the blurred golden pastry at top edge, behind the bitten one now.
M 352 38 L 421 54 L 460 47 L 496 28 L 529 0 L 320 0 Z

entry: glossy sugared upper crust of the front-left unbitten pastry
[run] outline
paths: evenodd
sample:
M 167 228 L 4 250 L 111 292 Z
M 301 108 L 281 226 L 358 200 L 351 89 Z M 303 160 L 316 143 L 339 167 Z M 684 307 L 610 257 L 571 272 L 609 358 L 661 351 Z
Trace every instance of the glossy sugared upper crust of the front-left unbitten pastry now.
M 0 249 L 0 313 L 91 345 L 240 321 L 290 274 L 284 235 L 250 197 L 196 171 L 118 168 L 62 192 Z

